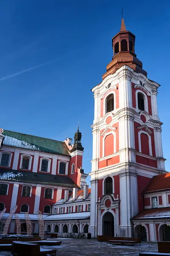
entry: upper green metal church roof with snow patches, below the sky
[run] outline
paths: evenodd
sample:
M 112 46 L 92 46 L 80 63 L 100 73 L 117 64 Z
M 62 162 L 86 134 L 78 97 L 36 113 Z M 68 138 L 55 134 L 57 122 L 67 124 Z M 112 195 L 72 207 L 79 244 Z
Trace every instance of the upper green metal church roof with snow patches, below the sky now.
M 3 145 L 70 156 L 67 146 L 62 141 L 7 130 L 3 131 L 3 136 Z

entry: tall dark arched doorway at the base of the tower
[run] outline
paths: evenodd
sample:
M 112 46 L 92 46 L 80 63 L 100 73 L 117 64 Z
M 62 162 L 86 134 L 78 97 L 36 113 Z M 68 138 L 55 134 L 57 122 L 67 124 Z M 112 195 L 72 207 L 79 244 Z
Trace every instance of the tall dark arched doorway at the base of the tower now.
M 106 212 L 103 216 L 103 235 L 114 236 L 114 217 L 111 212 Z

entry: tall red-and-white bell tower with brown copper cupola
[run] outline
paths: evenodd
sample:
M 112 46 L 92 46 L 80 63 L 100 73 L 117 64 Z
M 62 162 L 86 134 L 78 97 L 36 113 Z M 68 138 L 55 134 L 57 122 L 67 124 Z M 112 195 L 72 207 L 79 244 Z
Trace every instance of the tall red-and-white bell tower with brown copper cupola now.
M 92 237 L 132 236 L 130 218 L 143 209 L 142 191 L 165 172 L 157 109 L 159 84 L 136 58 L 135 35 L 112 38 L 113 57 L 94 93 L 91 170 Z

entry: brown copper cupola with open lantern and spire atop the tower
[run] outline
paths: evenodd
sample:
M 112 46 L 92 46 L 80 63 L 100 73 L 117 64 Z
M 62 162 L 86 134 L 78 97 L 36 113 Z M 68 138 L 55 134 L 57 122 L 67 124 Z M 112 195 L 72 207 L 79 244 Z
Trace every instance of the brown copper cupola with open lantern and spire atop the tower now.
M 107 65 L 107 72 L 102 79 L 114 74 L 120 67 L 127 65 L 138 73 L 147 76 L 147 72 L 142 69 L 142 61 L 136 58 L 135 54 L 135 35 L 126 30 L 124 19 L 122 18 L 120 31 L 112 38 L 113 57 Z

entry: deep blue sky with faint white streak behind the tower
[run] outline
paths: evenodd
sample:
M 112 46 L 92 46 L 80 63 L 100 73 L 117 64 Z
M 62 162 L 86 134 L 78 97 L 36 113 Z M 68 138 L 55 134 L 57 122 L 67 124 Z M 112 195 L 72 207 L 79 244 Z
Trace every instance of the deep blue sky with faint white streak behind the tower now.
M 83 168 L 91 172 L 94 98 L 119 32 L 121 7 L 148 78 L 161 84 L 158 109 L 169 155 L 170 2 L 0 1 L 0 127 L 64 140 L 80 123 Z M 90 179 L 88 178 L 88 181 Z

